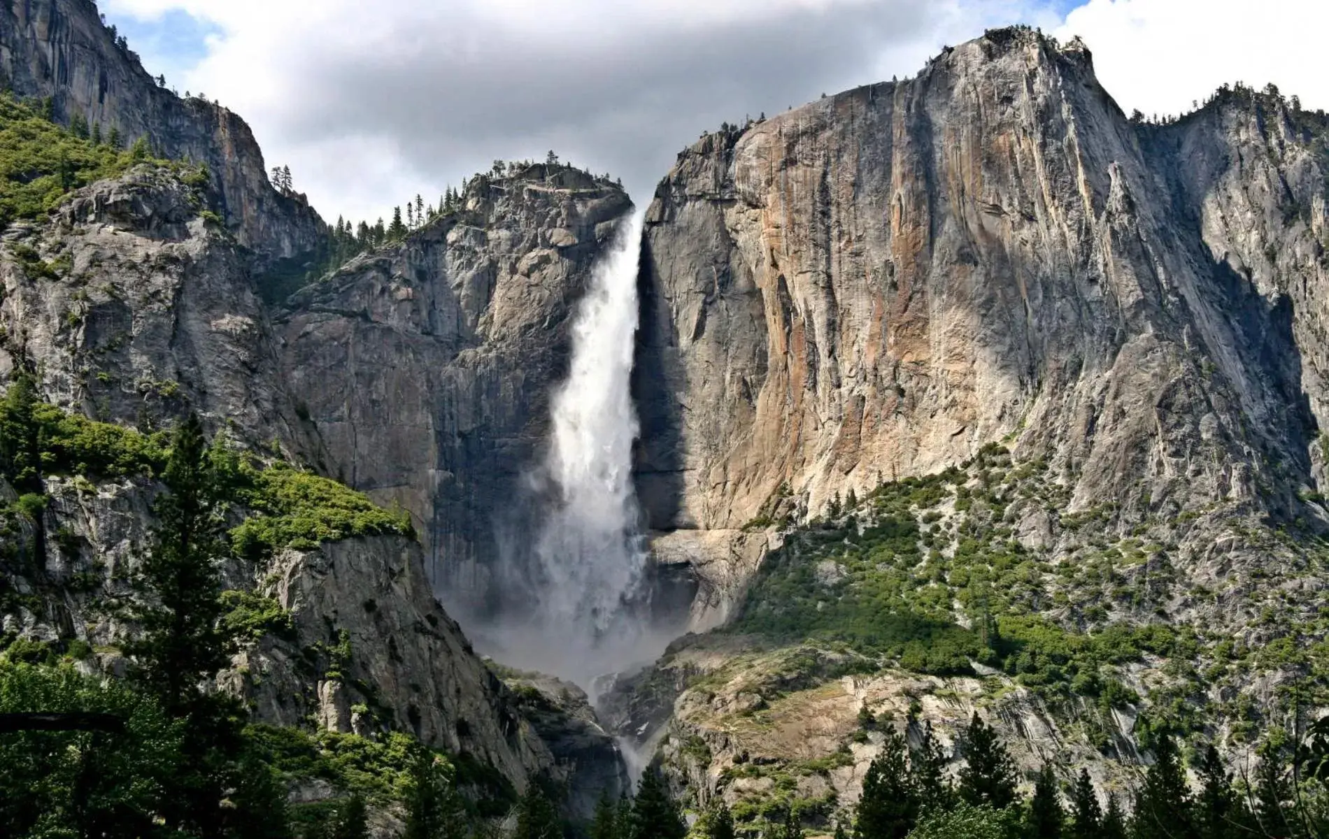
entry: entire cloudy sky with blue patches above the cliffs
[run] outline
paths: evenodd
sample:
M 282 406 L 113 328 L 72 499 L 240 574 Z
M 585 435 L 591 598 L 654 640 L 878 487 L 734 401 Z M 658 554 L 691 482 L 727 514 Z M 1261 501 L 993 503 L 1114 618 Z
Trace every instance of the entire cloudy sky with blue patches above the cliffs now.
M 1324 0 L 101 0 L 153 74 L 254 127 L 327 219 L 372 220 L 550 149 L 649 199 L 722 121 L 912 76 L 1029 23 L 1080 35 L 1126 109 L 1225 81 L 1329 108 Z M 1259 12 L 1253 12 L 1253 9 Z

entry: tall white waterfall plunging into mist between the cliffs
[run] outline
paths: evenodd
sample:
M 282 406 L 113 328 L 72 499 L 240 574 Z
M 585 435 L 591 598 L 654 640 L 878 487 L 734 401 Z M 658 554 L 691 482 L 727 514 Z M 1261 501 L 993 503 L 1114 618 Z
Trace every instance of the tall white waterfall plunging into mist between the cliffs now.
M 570 369 L 550 402 L 549 449 L 518 502 L 533 510 L 504 534 L 502 607 L 477 632 L 501 662 L 591 690 L 597 676 L 654 658 L 678 635 L 653 624 L 631 474 L 642 215 L 619 222 L 578 304 Z

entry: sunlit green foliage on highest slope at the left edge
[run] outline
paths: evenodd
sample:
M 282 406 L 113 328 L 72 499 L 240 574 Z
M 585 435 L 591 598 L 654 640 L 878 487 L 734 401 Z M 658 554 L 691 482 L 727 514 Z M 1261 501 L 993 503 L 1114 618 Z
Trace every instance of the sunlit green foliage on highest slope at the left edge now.
M 146 145 L 120 151 L 49 122 L 35 108 L 0 93 L 0 230 L 40 218 L 70 190 L 153 161 Z

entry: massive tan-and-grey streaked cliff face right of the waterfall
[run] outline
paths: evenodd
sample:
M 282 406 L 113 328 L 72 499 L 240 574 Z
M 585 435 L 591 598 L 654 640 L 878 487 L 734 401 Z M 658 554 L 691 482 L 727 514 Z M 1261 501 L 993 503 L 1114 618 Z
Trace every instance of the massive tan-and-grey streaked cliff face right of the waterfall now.
M 643 242 L 651 527 L 723 556 L 781 485 L 815 515 L 997 441 L 1123 526 L 1320 516 L 1322 137 L 1249 92 L 1131 123 L 1022 29 L 704 137 Z

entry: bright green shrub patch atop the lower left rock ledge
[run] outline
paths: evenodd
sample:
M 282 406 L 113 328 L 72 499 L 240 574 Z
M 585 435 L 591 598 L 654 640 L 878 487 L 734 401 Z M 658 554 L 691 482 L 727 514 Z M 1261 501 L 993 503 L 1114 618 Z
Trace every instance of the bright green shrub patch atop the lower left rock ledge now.
M 284 463 L 250 470 L 247 477 L 251 483 L 242 498 L 258 515 L 231 531 L 242 555 L 311 550 L 320 542 L 352 536 L 415 534 L 405 512 L 384 510 L 336 481 Z

